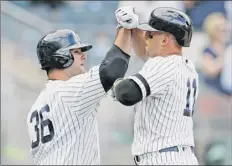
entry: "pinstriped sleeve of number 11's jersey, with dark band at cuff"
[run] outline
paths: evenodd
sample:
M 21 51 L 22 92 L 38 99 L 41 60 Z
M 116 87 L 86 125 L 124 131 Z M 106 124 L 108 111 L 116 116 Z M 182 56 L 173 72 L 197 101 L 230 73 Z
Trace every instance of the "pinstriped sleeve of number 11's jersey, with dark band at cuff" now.
M 143 99 L 149 95 L 162 93 L 175 77 L 176 63 L 171 57 L 149 59 L 143 68 L 129 79 L 135 81 L 142 92 Z

